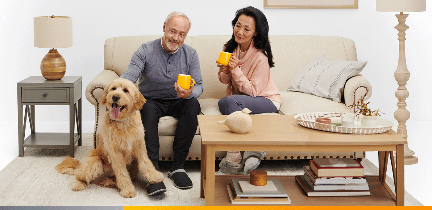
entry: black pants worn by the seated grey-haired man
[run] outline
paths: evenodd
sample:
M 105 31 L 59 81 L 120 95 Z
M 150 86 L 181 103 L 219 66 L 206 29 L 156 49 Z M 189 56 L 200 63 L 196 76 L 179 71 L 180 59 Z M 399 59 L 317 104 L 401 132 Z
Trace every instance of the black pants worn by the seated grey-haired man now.
M 174 151 L 173 161 L 184 163 L 189 148 L 191 147 L 194 135 L 197 132 L 198 120 L 201 107 L 197 99 L 171 99 L 154 100 L 147 99 L 146 104 L 141 109 L 141 120 L 143 121 L 146 133 L 146 147 L 149 159 L 154 163 L 159 161 L 159 118 L 172 116 L 178 118 L 177 128 L 175 129 L 172 150 Z M 169 145 L 161 145 L 167 147 Z

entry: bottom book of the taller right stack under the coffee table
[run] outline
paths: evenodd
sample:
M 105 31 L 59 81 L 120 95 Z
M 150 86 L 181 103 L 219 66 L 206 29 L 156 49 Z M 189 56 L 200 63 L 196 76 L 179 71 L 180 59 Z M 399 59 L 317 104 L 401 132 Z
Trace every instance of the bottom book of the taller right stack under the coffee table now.
M 303 176 L 295 176 L 295 180 L 303 188 L 306 195 L 309 197 L 325 197 L 325 196 L 365 196 L 371 195 L 369 190 L 313 190 L 305 181 Z

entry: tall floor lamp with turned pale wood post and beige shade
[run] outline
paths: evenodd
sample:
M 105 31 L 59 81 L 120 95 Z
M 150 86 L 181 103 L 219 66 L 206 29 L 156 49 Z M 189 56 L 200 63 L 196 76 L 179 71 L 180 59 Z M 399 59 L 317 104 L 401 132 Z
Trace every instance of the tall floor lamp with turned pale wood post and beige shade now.
M 407 103 L 405 100 L 408 98 L 409 93 L 407 91 L 407 81 L 410 78 L 410 72 L 407 68 L 407 62 L 405 59 L 405 31 L 409 28 L 405 25 L 406 14 L 403 12 L 423 12 L 426 11 L 426 0 L 377 0 L 376 11 L 378 12 L 400 12 L 400 15 L 395 15 L 399 21 L 399 24 L 394 28 L 399 31 L 397 34 L 399 37 L 399 61 L 397 63 L 396 71 L 394 72 L 394 78 L 397 81 L 399 87 L 397 88 L 394 96 L 396 96 L 397 110 L 394 112 L 394 119 L 397 120 L 399 125 L 397 126 L 397 133 L 404 139 L 407 139 L 407 126 L 405 125 L 407 120 L 410 118 L 410 112 L 405 108 Z M 405 165 L 416 164 L 418 162 L 417 157 L 413 156 L 414 151 L 405 145 Z

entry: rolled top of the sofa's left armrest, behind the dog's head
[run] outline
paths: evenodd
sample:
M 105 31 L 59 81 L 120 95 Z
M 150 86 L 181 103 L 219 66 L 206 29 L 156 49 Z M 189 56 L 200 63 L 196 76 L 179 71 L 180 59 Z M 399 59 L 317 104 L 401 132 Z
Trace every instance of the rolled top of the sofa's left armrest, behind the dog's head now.
M 86 98 L 94 106 L 97 106 L 102 98 L 102 91 L 105 87 L 115 79 L 118 79 L 118 74 L 111 70 L 104 70 L 99 73 L 86 88 Z

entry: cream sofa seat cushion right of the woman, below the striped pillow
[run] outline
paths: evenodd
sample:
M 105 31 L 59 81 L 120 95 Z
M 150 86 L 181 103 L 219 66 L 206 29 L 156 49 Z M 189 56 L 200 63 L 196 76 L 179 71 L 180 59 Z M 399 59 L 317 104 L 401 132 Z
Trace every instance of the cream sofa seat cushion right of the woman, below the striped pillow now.
M 338 103 L 300 92 L 279 91 L 282 97 L 280 114 L 294 115 L 306 112 L 343 112 L 350 113 L 343 103 Z

